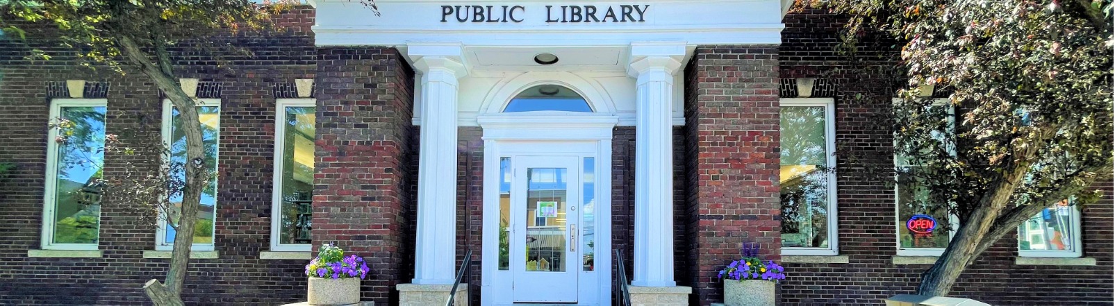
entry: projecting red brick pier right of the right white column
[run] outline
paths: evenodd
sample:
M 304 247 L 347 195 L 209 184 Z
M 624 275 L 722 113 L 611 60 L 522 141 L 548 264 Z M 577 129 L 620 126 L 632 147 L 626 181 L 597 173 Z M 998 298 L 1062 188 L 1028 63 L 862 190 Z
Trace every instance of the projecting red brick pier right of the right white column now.
M 780 250 L 777 47 L 697 48 L 685 96 L 690 304 L 708 305 L 741 243 Z

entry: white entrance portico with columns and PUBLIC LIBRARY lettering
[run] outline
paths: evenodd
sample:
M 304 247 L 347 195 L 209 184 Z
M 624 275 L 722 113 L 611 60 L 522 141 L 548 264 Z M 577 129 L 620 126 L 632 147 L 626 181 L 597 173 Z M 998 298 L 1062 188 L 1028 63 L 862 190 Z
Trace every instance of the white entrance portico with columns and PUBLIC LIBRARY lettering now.
M 782 3 L 474 2 L 377 1 L 381 17 L 348 1 L 316 3 L 318 46 L 392 47 L 416 75 L 415 265 L 398 289 L 447 294 L 455 280 L 458 130 L 478 127 L 482 304 L 610 304 L 611 199 L 627 184 L 611 174 L 613 130 L 633 127 L 633 160 L 623 160 L 634 164 L 624 187 L 633 235 L 621 239 L 633 245 L 631 286 L 651 289 L 632 292 L 687 300 L 673 244 L 681 71 L 699 46 L 777 45 Z

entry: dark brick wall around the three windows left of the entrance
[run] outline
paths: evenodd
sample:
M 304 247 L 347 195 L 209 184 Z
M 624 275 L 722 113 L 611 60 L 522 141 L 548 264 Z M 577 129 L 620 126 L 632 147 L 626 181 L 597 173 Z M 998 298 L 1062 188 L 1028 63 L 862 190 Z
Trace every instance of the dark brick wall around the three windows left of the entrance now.
M 282 17 L 294 28 L 265 38 L 230 38 L 256 57 L 229 57 L 226 67 L 211 55 L 176 48 L 180 78 L 223 85 L 217 220 L 220 259 L 193 259 L 183 292 L 190 304 L 280 304 L 304 299 L 302 260 L 260 260 L 270 248 L 274 83 L 314 78 L 316 51 L 310 8 Z M 303 30 L 297 30 L 301 28 Z M 129 71 L 77 66 L 67 48 L 30 30 L 28 43 L 51 60 L 27 62 L 28 47 L 0 40 L 0 161 L 16 171 L 0 181 L 0 304 L 143 304 L 142 286 L 163 278 L 166 259 L 145 259 L 155 229 L 138 224 L 134 207 L 106 196 L 101 205 L 103 258 L 30 258 L 38 249 L 42 219 L 46 135 L 50 120 L 48 81 L 84 79 L 109 83 L 107 132 L 135 144 L 138 134 L 159 132 L 162 102 L 154 83 Z M 106 156 L 105 177 L 119 175 L 123 156 Z

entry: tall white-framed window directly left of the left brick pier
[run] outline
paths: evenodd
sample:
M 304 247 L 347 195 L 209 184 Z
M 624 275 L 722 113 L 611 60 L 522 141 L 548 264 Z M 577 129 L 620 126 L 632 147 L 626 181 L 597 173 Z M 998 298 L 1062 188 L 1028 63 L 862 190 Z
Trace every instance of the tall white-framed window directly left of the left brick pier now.
M 310 251 L 316 101 L 279 99 L 275 103 L 271 250 Z

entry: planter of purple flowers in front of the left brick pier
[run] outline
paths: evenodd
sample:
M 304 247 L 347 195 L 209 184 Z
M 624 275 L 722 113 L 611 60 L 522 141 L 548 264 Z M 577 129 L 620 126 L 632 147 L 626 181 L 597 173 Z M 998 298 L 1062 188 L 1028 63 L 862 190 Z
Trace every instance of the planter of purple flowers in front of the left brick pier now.
M 363 258 L 326 244 L 318 257 L 306 265 L 307 299 L 310 305 L 345 305 L 360 303 L 360 279 L 368 276 Z

